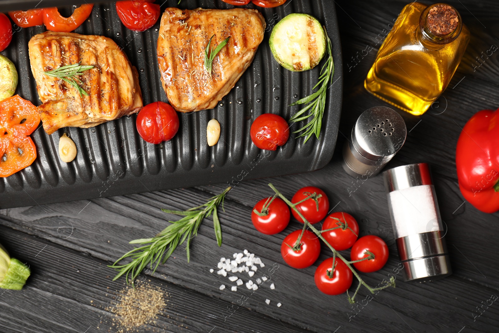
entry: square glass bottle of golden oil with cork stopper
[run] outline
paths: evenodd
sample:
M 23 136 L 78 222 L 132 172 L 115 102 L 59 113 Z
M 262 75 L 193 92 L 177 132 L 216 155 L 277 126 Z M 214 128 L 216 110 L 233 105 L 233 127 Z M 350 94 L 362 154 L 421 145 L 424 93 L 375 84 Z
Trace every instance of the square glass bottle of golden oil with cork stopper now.
M 459 12 L 445 3 L 406 5 L 364 81 L 384 101 L 423 114 L 451 81 L 470 41 Z

